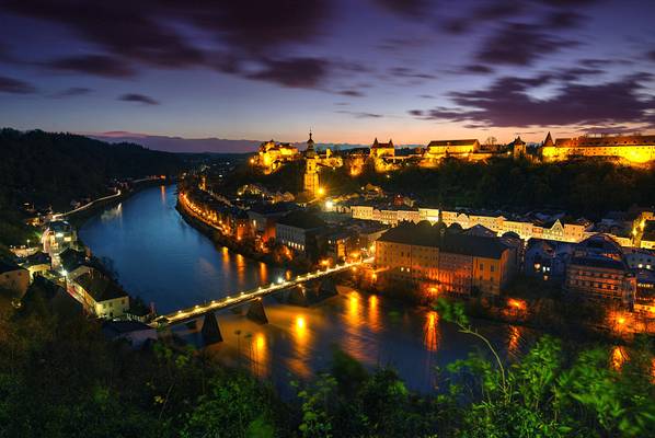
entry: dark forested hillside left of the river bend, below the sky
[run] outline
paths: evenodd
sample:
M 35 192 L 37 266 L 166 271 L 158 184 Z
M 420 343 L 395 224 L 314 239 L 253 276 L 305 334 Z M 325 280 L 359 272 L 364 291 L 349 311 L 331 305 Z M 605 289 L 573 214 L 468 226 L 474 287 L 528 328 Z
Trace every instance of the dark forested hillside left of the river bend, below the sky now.
M 42 130 L 0 130 L 0 205 L 9 207 L 30 201 L 62 209 L 106 193 L 111 178 L 174 174 L 182 166 L 174 153 Z

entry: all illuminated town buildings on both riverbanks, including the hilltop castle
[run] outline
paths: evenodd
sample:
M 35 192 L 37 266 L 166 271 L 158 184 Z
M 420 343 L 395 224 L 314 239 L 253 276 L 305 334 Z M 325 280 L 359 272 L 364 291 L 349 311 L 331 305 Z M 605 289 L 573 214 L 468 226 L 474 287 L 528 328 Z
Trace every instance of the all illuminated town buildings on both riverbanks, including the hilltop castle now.
M 612 137 L 604 137 L 611 139 Z M 589 140 L 590 141 L 590 140 Z M 635 138 L 646 145 L 650 138 Z M 550 135 L 544 145 L 552 143 Z M 436 145 L 445 145 L 438 152 Z M 463 146 L 467 145 L 467 146 Z M 519 139 L 494 152 L 506 160 L 526 159 Z M 588 153 L 597 155 L 596 146 Z M 625 148 L 623 151 L 621 148 Z M 614 157 L 629 157 L 633 146 L 617 146 Z M 652 148 L 640 146 L 639 148 Z M 506 149 L 508 149 L 506 151 Z M 537 148 L 539 149 L 539 148 Z M 617 150 L 618 149 L 618 150 Z M 289 152 L 290 151 L 290 152 Z M 429 152 L 427 152 L 429 151 Z M 426 153 L 439 160 L 469 160 L 479 154 L 478 140 L 432 141 Z M 462 155 L 463 154 L 463 155 Z M 579 157 L 578 155 L 578 157 Z M 366 157 L 363 159 L 363 157 Z M 402 155 L 401 155 L 402 157 Z M 412 157 L 412 155 L 406 155 Z M 407 160 L 407 158 L 400 160 Z M 423 154 L 425 157 L 425 153 Z M 379 163 L 379 160 L 383 164 Z M 272 174 L 292 162 L 302 164 L 302 192 L 274 193 L 251 183 L 235 193 L 219 193 L 207 181 L 211 174 L 229 177 L 233 166 L 206 168 L 187 174 L 180 182 L 181 211 L 206 222 L 225 239 L 221 242 L 251 257 L 289 266 L 299 273 L 371 258 L 372 264 L 353 276 L 367 281 L 371 290 L 411 288 L 409 295 L 429 302 L 438 296 L 486 297 L 499 303 L 517 278 L 536 278 L 549 287 L 589 299 L 612 309 L 612 321 L 628 321 L 622 333 L 651 331 L 655 316 L 655 212 L 634 207 L 609 211 L 593 222 L 552 209 L 524 212 L 443 209 L 422 206 L 409 196 L 384 192 L 370 183 L 354 193 L 334 193 L 321 183 L 321 170 L 370 165 L 375 172 L 392 174 L 397 165 L 393 143 L 372 143 L 363 150 L 332 153 L 317 151 L 310 134 L 304 150 L 288 145 L 262 143 L 245 165 Z M 430 158 L 432 160 L 432 158 Z M 476 159 L 475 159 L 476 160 Z M 229 164 L 229 163 L 228 163 Z M 421 164 L 420 164 L 421 165 Z M 203 169 L 203 168 L 200 168 Z M 162 176 L 163 177 L 163 176 Z M 131 185 L 159 181 L 159 176 L 130 182 Z M 117 187 L 129 189 L 125 183 Z M 99 199 L 111 201 L 120 195 Z M 71 203 L 77 214 L 93 203 Z M 45 216 L 44 216 L 45 215 Z M 143 323 L 157 318 L 152 306 L 130 299 L 102 263 L 77 238 L 64 214 L 45 212 L 27 219 L 41 224 L 39 247 L 15 249 L 16 264 L 3 263 L 2 287 L 23 297 L 31 281 L 42 281 L 50 300 L 70 301 L 88 314 L 133 323 L 133 330 L 149 330 Z M 27 242 L 30 243 L 30 242 Z M 72 298 L 72 300 L 71 300 Z M 512 297 L 509 299 L 514 300 Z M 505 300 L 505 306 L 517 301 Z M 521 304 L 521 306 L 525 306 Z

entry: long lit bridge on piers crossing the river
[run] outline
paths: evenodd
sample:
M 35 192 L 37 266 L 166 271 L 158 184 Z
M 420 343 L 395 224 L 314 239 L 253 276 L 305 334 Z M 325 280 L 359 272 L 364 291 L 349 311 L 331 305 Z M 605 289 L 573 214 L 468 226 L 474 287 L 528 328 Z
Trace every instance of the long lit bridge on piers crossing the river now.
M 216 321 L 215 312 L 226 309 L 237 309 L 250 303 L 248 315 L 258 322 L 266 323 L 267 319 L 262 304 L 262 298 L 285 289 L 302 287 L 304 284 L 310 281 L 315 283 L 317 280 L 320 280 L 326 276 L 343 270 L 353 269 L 363 264 L 370 264 L 374 258 L 370 257 L 358 262 L 337 264 L 333 267 L 319 269 L 313 273 L 300 274 L 289 280 L 285 280 L 280 277 L 277 281 L 272 283 L 268 286 L 260 286 L 256 289 L 238 291 L 237 293 L 225 297 L 220 300 L 212 300 L 210 302 L 196 304 L 191 308 L 180 309 L 168 314 L 159 315 L 150 323 L 150 325 L 161 328 L 204 318 L 203 336 L 205 337 L 205 341 L 208 343 L 220 342 L 222 337 L 220 335 L 220 330 L 218 328 L 218 322 Z

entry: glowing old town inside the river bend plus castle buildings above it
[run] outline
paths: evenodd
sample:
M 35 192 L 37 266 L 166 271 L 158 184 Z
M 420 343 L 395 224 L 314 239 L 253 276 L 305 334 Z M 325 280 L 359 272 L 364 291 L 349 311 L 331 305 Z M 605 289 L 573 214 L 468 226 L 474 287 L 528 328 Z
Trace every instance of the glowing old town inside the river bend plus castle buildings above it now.
M 604 137 L 612 141 L 613 137 Z M 650 137 L 634 137 L 608 150 L 629 157 L 633 143 L 652 149 Z M 591 140 L 588 140 L 589 142 Z M 552 143 L 550 135 L 544 147 Z M 430 145 L 469 145 L 457 153 L 476 153 L 478 140 L 433 141 Z M 508 160 L 524 160 L 525 143 L 517 139 Z M 428 150 L 432 146 L 428 147 Z M 575 158 L 600 154 L 597 146 Z M 623 149 L 621 149 L 623 148 Z M 382 152 L 383 150 L 383 152 Z M 498 150 L 502 150 L 498 148 Z M 290 151 L 290 152 L 289 152 Z M 517 152 L 518 151 L 518 152 Z M 439 153 L 449 158 L 448 147 Z M 356 158 L 353 159 L 353 155 Z M 516 278 L 538 278 L 571 297 L 583 297 L 612 309 L 608 324 L 621 332 L 652 331 L 655 316 L 655 214 L 653 207 L 609 211 L 598 221 L 575 218 L 561 210 L 524 212 L 440 209 L 421 206 L 411 197 L 386 193 L 367 184 L 354 193 L 334 193 L 321 183 L 322 169 L 347 166 L 367 157 L 376 172 L 380 157 L 395 157 L 393 143 L 377 140 L 370 151 L 324 153 L 315 150 L 310 134 L 298 151 L 288 145 L 265 142 L 249 164 L 265 174 L 292 162 L 302 163 L 301 193 L 274 193 L 246 184 L 235 193 L 219 193 L 207 183 L 207 172 L 189 176 L 181 195 L 182 207 L 232 238 L 234 249 L 276 262 L 294 262 L 301 269 L 374 257 L 368 273 L 374 289 L 404 285 L 425 301 L 439 295 L 499 299 Z M 468 160 L 470 155 L 464 157 Z M 573 158 L 572 158 L 573 159 Z M 392 174 L 387 168 L 383 172 Z M 353 168 L 347 172 L 353 174 Z M 355 172 L 357 173 L 357 172 Z M 297 200 L 297 201 L 294 201 Z M 623 312 L 624 311 L 624 312 Z M 628 321 L 629 323 L 625 323 Z

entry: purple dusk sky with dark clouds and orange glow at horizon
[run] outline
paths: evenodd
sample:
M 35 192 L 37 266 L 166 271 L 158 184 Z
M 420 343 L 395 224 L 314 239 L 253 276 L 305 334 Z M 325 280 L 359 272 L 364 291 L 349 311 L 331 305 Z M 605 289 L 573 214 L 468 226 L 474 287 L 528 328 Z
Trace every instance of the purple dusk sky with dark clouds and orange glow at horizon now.
M 653 131 L 653 0 L 0 0 L 18 129 L 397 145 Z

